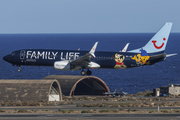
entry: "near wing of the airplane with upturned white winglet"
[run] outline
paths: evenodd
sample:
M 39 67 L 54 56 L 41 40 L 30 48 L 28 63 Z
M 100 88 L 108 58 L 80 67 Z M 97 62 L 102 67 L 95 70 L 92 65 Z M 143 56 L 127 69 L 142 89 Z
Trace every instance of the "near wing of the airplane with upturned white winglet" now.
M 75 66 L 80 66 L 80 67 L 84 67 L 84 68 L 99 68 L 100 65 L 95 63 L 95 62 L 91 62 L 90 58 L 93 56 L 96 58 L 95 56 L 95 50 L 97 47 L 98 42 L 96 42 L 94 44 L 94 46 L 92 47 L 92 49 L 89 51 L 89 53 L 86 53 L 84 56 L 74 60 L 71 62 L 71 64 L 75 65 Z

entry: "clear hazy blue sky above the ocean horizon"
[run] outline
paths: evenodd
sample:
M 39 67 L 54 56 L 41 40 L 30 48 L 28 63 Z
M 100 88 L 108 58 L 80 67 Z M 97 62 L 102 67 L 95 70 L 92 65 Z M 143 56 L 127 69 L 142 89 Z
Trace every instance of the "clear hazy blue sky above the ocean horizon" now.
M 0 0 L 0 34 L 180 32 L 180 0 Z

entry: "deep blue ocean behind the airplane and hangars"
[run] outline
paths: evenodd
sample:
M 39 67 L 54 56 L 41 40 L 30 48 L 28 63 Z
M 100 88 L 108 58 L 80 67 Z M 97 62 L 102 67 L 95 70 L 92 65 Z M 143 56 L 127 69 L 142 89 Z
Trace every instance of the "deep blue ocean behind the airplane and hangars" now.
M 0 34 L 0 79 L 42 79 L 48 75 L 80 75 L 80 71 L 56 71 L 53 67 L 18 67 L 5 62 L 3 56 L 19 49 L 90 50 L 99 41 L 97 51 L 128 50 L 143 47 L 155 33 L 102 33 L 102 34 Z M 169 83 L 180 84 L 180 33 L 171 33 L 165 53 L 178 53 L 152 66 L 131 69 L 95 69 L 92 75 L 104 80 L 111 89 L 122 89 L 129 94 L 153 90 Z

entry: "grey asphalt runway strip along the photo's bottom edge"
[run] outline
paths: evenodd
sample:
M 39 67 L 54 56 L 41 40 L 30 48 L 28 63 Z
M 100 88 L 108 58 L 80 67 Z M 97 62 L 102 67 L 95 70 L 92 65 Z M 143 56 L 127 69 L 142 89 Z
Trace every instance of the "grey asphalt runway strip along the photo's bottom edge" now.
M 6 120 L 179 120 L 180 114 L 1 114 Z

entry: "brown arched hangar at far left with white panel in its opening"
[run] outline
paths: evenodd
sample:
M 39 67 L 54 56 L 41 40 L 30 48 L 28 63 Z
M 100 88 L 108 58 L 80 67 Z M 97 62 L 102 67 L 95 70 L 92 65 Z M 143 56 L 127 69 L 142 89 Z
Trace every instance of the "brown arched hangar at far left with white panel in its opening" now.
M 0 100 L 48 101 L 53 83 L 60 94 L 59 100 L 62 100 L 57 80 L 0 80 Z

